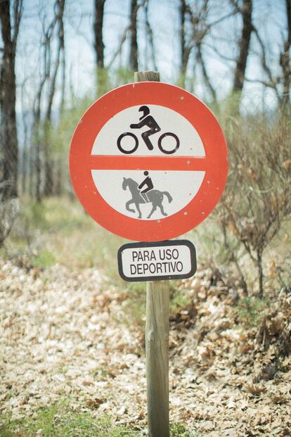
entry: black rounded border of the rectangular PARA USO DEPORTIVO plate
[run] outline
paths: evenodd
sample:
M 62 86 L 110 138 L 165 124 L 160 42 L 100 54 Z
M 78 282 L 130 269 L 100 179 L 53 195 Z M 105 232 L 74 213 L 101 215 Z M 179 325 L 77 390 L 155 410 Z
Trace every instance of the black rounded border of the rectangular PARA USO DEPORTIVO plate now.
M 122 270 L 122 251 L 127 248 L 146 248 L 157 246 L 187 246 L 190 249 L 191 269 L 190 272 L 185 274 L 166 274 L 161 276 L 148 276 L 148 277 L 127 277 Z M 167 241 L 141 241 L 138 243 L 126 243 L 119 247 L 117 252 L 118 272 L 120 277 L 127 282 L 141 282 L 141 281 L 164 281 L 165 279 L 186 279 L 195 274 L 196 263 L 196 250 L 191 241 L 188 240 L 167 240 Z

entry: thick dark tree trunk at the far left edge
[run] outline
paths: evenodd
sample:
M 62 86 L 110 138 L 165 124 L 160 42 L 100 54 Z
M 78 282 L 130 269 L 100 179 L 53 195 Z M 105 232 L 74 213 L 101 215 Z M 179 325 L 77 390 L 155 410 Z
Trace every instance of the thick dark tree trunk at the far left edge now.
M 15 10 L 19 2 L 15 3 Z M 20 19 L 20 13 L 19 13 Z M 15 49 L 17 32 L 11 31 L 10 1 L 0 1 L 1 37 L 3 55 L 0 77 L 0 143 L 1 143 L 1 196 L 4 200 L 18 195 L 18 139 L 16 129 Z

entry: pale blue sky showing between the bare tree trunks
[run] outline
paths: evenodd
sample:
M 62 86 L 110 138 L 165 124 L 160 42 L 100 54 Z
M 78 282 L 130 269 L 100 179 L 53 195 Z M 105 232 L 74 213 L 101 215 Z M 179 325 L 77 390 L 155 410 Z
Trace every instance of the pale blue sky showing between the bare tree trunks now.
M 200 4 L 200 1 L 190 4 Z M 148 20 L 153 29 L 155 61 L 160 71 L 161 80 L 175 83 L 179 80 L 180 46 L 179 46 L 179 0 L 155 0 L 148 6 Z M 216 23 L 231 13 L 229 1 L 214 0 L 209 6 L 209 23 Z M 42 29 L 51 20 L 53 1 L 26 0 L 22 17 L 22 27 L 18 42 L 17 73 L 18 96 L 22 91 L 22 103 L 29 108 L 31 91 L 39 81 L 41 61 Z M 105 43 L 105 66 L 111 65 L 118 51 L 124 30 L 129 26 L 130 1 L 106 0 L 103 22 L 103 38 Z M 280 46 L 282 46 L 282 26 L 285 21 L 285 2 L 271 0 L 254 1 L 253 20 L 264 40 L 269 61 L 278 63 Z M 216 24 L 209 32 L 204 44 L 205 62 L 209 77 L 214 83 L 219 99 L 226 96 L 231 89 L 231 70 L 238 53 L 236 40 L 239 37 L 241 18 L 230 16 Z M 187 29 L 186 29 L 187 30 Z M 188 26 L 188 37 L 190 27 Z M 187 35 L 186 35 L 187 36 Z M 247 77 L 251 80 L 261 79 L 258 43 L 252 35 L 252 47 L 247 62 Z M 122 50 L 116 56 L 112 67 L 128 66 L 129 45 L 123 44 Z M 67 0 L 65 4 L 65 59 L 66 59 L 66 89 L 74 91 L 75 95 L 92 94 L 94 99 L 96 62 L 93 49 L 93 2 Z M 146 40 L 145 13 L 138 11 L 138 61 L 140 70 L 153 69 L 153 60 Z M 202 84 L 200 69 L 195 65 L 192 56 L 187 68 L 188 88 L 207 99 L 205 87 Z M 25 83 L 25 89 L 22 84 Z M 256 101 L 261 101 L 261 84 L 246 82 L 245 95 Z M 268 95 L 270 91 L 268 91 Z M 271 96 L 271 99 L 273 97 Z M 18 97 L 18 109 L 20 99 Z

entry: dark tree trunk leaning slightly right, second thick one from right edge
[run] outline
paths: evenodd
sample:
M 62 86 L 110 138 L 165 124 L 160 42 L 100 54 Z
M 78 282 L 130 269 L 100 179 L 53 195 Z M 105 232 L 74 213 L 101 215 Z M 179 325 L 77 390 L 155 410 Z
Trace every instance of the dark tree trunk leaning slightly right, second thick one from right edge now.
M 252 36 L 252 0 L 243 0 L 242 6 L 243 29 L 240 37 L 239 54 L 235 65 L 233 91 L 243 91 L 247 56 L 249 54 Z

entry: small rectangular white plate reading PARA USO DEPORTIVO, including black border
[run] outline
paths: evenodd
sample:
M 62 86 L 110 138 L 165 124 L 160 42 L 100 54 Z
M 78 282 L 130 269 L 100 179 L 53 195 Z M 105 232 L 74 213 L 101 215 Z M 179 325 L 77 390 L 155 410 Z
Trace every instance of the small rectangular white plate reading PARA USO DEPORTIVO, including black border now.
M 118 267 L 125 281 L 188 278 L 196 271 L 195 248 L 186 240 L 124 244 Z

